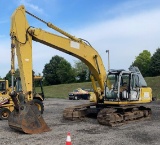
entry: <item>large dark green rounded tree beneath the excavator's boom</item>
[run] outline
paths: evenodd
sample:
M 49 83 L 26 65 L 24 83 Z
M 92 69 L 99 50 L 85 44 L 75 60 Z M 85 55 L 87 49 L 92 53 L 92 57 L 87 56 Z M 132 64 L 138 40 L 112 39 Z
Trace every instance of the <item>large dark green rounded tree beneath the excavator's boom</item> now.
M 71 83 L 75 81 L 75 73 L 71 64 L 58 55 L 51 58 L 44 66 L 43 77 L 45 85 Z

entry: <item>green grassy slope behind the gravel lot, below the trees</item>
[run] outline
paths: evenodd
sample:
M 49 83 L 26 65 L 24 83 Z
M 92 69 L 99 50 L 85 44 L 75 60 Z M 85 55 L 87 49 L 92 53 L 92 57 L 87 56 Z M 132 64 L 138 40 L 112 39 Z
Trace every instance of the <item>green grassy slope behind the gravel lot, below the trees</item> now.
M 160 99 L 160 76 L 145 78 L 149 87 L 153 90 L 153 97 Z M 68 93 L 76 88 L 92 88 L 91 82 L 61 84 L 53 86 L 44 86 L 44 93 L 46 98 L 68 98 Z

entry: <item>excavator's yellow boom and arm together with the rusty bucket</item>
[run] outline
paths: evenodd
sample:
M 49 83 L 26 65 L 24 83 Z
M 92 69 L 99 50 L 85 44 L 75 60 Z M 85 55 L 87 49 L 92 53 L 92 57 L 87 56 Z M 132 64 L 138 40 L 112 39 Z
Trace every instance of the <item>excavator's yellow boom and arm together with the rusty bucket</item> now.
M 47 23 L 41 19 L 39 20 L 47 24 L 48 27 L 60 32 L 65 37 L 46 32 L 39 28 L 33 28 L 28 24 L 26 13 L 34 16 L 27 12 L 24 6 L 20 6 L 15 10 L 11 17 L 11 72 L 12 76 L 14 76 L 14 53 L 16 50 L 23 95 L 25 96 L 25 102 L 29 102 L 18 105 L 14 92 L 12 92 L 13 94 L 11 94 L 11 97 L 14 100 L 17 109 L 11 113 L 8 123 L 11 128 L 25 133 L 40 133 L 43 131 L 49 131 L 50 129 L 44 122 L 42 116 L 38 114 L 39 117 L 37 117 L 37 111 L 33 111 L 35 109 L 31 109 L 35 108 L 33 103 L 30 103 L 33 99 L 32 40 L 70 54 L 84 62 L 91 71 L 91 80 L 97 100 L 102 99 L 104 83 L 106 80 L 106 71 L 98 52 L 89 43 L 86 43 L 85 41 L 78 39 L 53 24 Z M 95 80 L 98 81 L 100 89 L 97 89 Z M 32 118 L 30 118 L 31 116 Z M 32 125 L 28 125 L 30 123 L 33 124 L 34 127 Z

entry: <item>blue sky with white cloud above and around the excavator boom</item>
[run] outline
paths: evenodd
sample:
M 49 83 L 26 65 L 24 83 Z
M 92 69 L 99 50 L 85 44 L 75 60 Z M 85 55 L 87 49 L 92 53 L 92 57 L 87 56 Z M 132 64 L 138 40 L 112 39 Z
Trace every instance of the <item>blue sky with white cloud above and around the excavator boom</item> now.
M 89 41 L 101 56 L 106 70 L 106 50 L 109 50 L 111 69 L 127 70 L 143 50 L 153 55 L 160 47 L 159 0 L 1 0 L 0 77 L 5 77 L 10 70 L 10 18 L 20 5 L 46 22 Z M 27 20 L 30 26 L 56 33 L 32 17 L 27 16 Z M 42 74 L 44 65 L 55 55 L 64 57 L 72 66 L 77 61 L 38 42 L 33 42 L 32 49 L 36 74 Z

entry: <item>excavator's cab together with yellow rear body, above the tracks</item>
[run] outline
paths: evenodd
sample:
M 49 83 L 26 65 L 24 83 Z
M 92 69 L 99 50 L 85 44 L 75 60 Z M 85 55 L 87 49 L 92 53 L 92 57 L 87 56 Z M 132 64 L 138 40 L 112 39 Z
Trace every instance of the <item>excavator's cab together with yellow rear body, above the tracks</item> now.
M 111 86 L 105 87 L 106 101 L 131 102 L 131 101 L 151 101 L 151 89 L 136 67 L 125 70 L 110 70 L 107 81 Z

